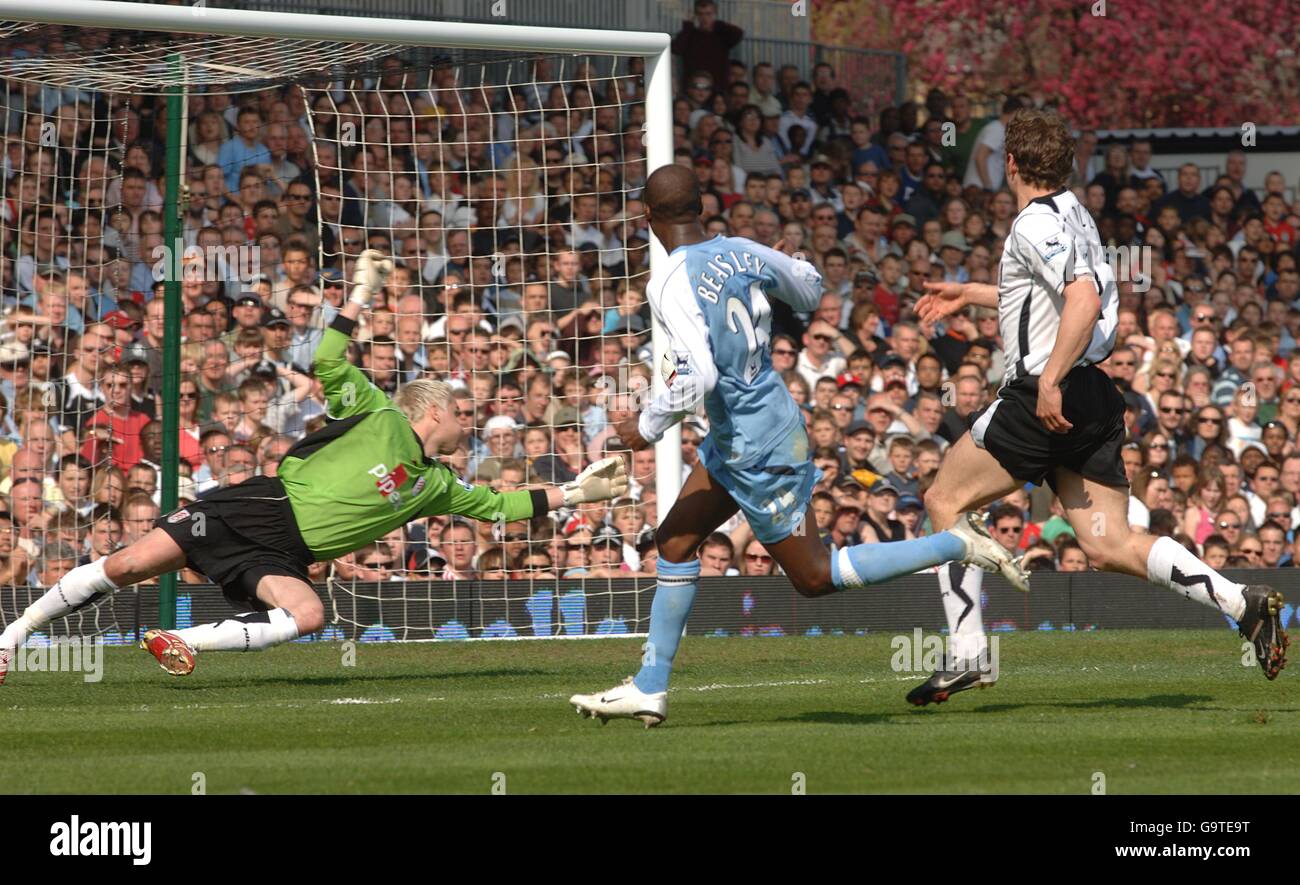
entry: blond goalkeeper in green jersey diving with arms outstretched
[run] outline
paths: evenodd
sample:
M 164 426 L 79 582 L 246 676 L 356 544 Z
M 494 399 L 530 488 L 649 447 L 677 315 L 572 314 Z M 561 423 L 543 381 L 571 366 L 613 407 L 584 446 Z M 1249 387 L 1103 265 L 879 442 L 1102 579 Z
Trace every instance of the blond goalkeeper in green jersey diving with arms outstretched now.
M 348 303 L 316 351 L 332 421 L 289 450 L 278 476 L 254 477 L 166 513 L 135 543 L 64 576 L 0 633 L 0 684 L 31 632 L 182 567 L 208 576 L 244 613 L 146 633 L 142 645 L 177 676 L 194 671 L 200 651 L 266 648 L 320 630 L 325 607 L 307 567 L 411 520 L 460 515 L 508 522 L 627 491 L 620 457 L 598 461 L 563 486 L 506 493 L 472 486 L 436 460 L 460 444 L 451 387 L 419 379 L 389 399 L 346 359 L 356 317 L 391 269 L 374 250 L 360 255 Z

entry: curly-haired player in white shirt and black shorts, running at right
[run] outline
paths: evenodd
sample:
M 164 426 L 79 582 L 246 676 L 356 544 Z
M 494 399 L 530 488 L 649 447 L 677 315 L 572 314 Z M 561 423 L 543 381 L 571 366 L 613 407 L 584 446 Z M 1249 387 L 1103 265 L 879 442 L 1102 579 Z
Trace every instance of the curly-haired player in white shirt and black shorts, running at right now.
M 1114 347 L 1118 291 L 1097 227 L 1065 188 L 1074 139 L 1053 113 L 1022 110 L 1006 127 L 1006 179 L 1019 205 L 998 285 L 926 283 L 924 321 L 996 307 L 1008 373 L 997 399 L 944 457 L 926 506 L 936 530 L 959 513 L 1046 481 L 1093 567 L 1145 578 L 1231 619 L 1265 677 L 1286 664 L 1282 594 L 1223 577 L 1173 538 L 1128 529 L 1124 400 L 1096 364 Z M 936 673 L 945 697 L 954 673 Z M 961 673 L 971 687 L 978 668 Z

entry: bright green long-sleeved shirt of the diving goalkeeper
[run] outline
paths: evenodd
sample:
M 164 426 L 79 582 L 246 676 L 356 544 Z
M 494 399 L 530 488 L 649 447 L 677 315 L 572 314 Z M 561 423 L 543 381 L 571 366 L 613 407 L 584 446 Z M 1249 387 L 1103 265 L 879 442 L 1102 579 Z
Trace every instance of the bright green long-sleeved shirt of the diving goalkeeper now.
M 538 502 L 545 493 L 473 486 L 426 457 L 406 415 L 347 361 L 354 325 L 335 317 L 316 350 L 316 377 L 333 420 L 290 448 L 278 470 L 317 561 L 425 516 L 511 521 L 545 509 Z

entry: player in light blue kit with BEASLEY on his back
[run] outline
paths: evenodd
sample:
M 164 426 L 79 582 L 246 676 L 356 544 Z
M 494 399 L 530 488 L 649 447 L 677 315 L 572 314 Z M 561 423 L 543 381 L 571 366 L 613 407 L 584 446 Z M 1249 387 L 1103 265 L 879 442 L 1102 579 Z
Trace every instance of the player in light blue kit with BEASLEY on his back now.
M 640 719 L 646 728 L 664 720 L 668 676 L 699 578 L 696 551 L 737 508 L 805 596 L 863 587 L 950 560 L 1000 571 L 1027 590 L 1019 564 L 975 515 L 963 515 L 950 532 L 833 554 L 815 530 L 803 530 L 812 525 L 810 500 L 820 473 L 809 460 L 800 408 L 772 372 L 768 298 L 812 311 L 822 277 L 807 261 L 753 240 L 710 238 L 699 221 L 699 186 L 684 166 L 656 169 L 646 182 L 645 201 L 650 229 L 670 253 L 646 290 L 670 338 L 658 366 L 667 389 L 616 429 L 630 448 L 645 448 L 701 403 L 710 429 L 699 464 L 656 532 L 659 580 L 641 672 L 608 691 L 573 695 L 577 711 L 602 721 Z

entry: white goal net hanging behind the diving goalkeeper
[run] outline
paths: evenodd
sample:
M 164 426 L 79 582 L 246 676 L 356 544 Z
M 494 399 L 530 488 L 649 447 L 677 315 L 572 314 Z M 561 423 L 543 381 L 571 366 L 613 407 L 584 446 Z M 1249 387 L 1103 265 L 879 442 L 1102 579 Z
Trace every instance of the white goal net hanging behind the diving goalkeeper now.
M 632 490 L 530 521 L 419 520 L 320 563 L 320 635 L 642 632 L 650 526 L 680 450 L 633 456 L 612 422 L 654 383 L 640 194 L 671 149 L 671 125 L 647 123 L 668 113 L 666 83 L 647 101 L 666 45 L 55 5 L 46 22 L 0 22 L 0 620 L 148 532 L 172 483 L 183 506 L 274 474 L 324 426 L 313 352 L 356 256 L 377 248 L 396 269 L 350 359 L 385 392 L 454 385 L 458 476 L 508 490 L 620 454 Z M 208 34 L 179 34 L 198 30 L 186 14 Z M 105 16 L 131 26 L 72 23 Z M 351 42 L 304 36 L 326 31 Z M 129 641 L 166 616 L 136 590 L 51 633 Z M 229 612 L 200 574 L 178 590 L 178 626 Z

